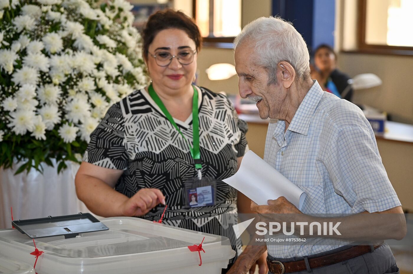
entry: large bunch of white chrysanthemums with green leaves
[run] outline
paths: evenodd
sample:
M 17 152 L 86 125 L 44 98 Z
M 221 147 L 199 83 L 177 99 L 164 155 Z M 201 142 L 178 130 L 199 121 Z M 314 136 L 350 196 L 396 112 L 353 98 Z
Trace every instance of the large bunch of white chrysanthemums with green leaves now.
M 107 108 L 147 84 L 125 0 L 0 0 L 0 166 L 79 161 Z

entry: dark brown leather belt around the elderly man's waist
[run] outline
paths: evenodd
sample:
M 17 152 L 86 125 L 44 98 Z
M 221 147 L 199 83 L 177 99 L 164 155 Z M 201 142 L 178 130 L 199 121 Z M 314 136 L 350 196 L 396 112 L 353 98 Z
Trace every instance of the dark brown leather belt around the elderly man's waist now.
M 380 247 L 383 244 L 377 244 L 374 249 Z M 342 251 L 337 251 L 332 254 L 323 255 L 320 257 L 308 259 L 309 266 L 311 269 L 324 267 L 327 265 L 334 265 L 337 262 L 342 262 L 357 256 L 366 254 L 371 251 L 370 246 L 353 246 Z M 268 269 L 274 274 L 284 274 L 290 272 L 298 272 L 307 270 L 306 263 L 304 260 L 295 262 L 280 262 L 277 260 L 270 260 L 267 257 Z

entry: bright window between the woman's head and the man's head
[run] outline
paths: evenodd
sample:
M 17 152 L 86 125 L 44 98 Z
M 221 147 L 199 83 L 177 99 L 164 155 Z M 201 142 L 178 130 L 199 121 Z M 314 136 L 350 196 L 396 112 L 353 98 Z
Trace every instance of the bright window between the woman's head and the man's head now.
M 205 42 L 232 43 L 241 32 L 241 0 L 194 0 L 193 7 Z

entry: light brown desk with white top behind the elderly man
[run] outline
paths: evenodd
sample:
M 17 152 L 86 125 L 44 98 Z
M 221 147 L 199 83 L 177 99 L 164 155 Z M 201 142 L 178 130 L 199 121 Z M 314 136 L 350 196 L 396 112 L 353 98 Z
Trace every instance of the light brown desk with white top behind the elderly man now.
M 262 120 L 257 114 L 239 116 L 248 123 L 249 148 L 263 158 L 269 119 Z M 376 136 L 376 141 L 403 209 L 413 213 L 413 125 L 387 121 L 385 134 Z

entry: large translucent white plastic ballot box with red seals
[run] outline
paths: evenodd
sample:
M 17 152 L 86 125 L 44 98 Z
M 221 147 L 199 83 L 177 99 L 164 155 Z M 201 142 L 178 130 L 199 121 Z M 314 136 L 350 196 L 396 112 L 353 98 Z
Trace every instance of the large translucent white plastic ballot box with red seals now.
M 112 217 L 99 221 L 109 229 L 80 232 L 71 237 L 33 237 L 38 251 L 44 252 L 38 256 L 36 272 L 211 274 L 221 273 L 221 269 L 226 268 L 228 261 L 235 256 L 226 237 L 133 217 Z M 38 230 L 37 234 L 41 231 Z M 17 229 L 0 230 L 0 257 L 8 256 L 33 266 L 36 256 L 30 254 L 35 251 L 32 236 Z M 194 248 L 188 248 L 199 245 L 202 239 L 205 252 L 192 252 L 190 249 Z

